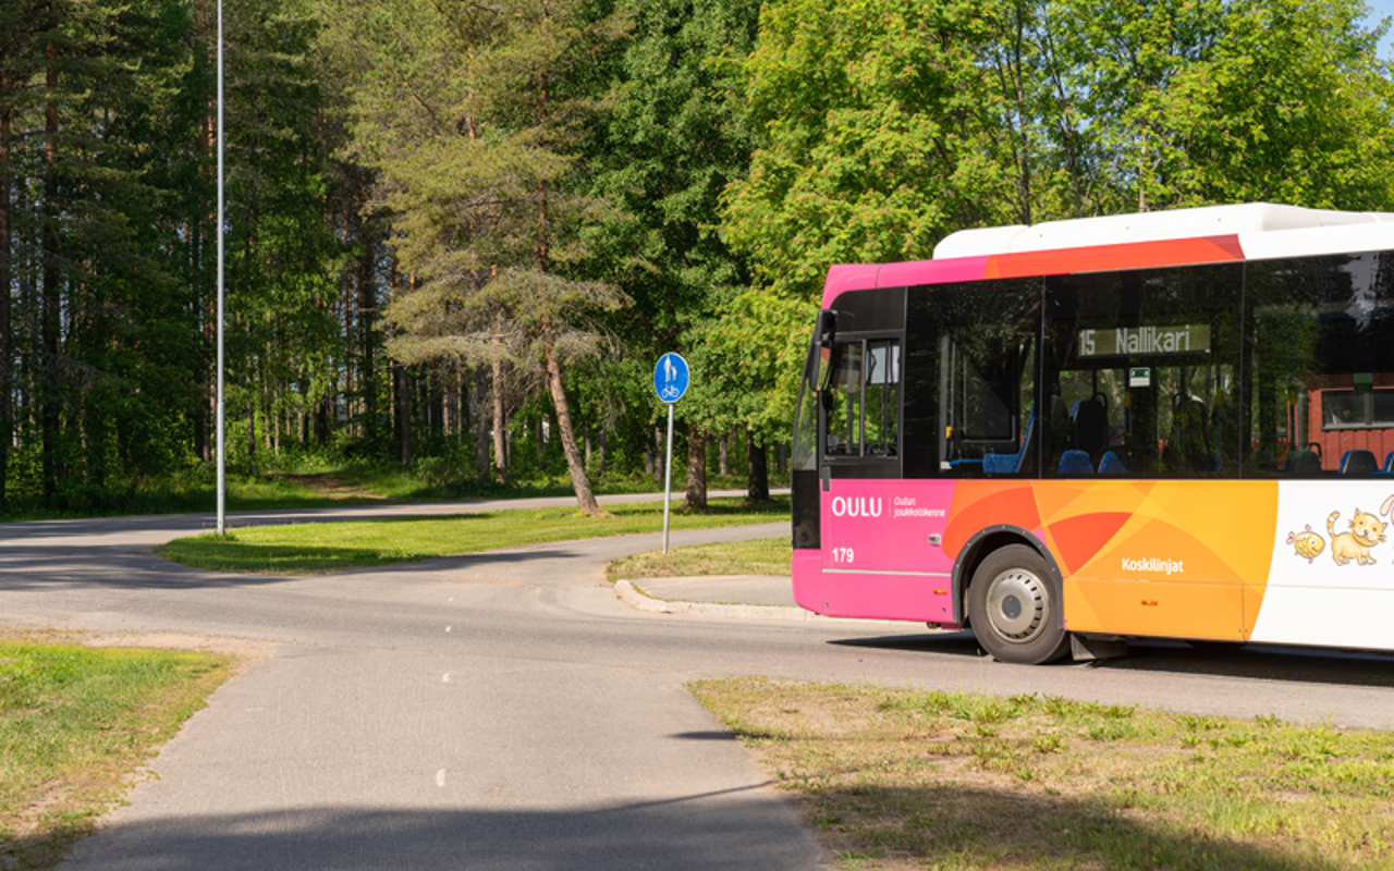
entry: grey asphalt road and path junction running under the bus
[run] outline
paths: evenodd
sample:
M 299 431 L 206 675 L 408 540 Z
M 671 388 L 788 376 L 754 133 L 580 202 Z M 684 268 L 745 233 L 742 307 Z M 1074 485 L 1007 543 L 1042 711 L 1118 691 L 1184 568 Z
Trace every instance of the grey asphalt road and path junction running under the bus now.
M 454 513 L 410 506 L 293 513 Z M 492 506 L 468 506 L 488 510 Z M 287 514 L 234 516 L 233 524 Z M 208 517 L 0 527 L 0 620 L 259 642 L 64 868 L 817 868 L 825 857 L 687 694 L 725 675 L 1048 693 L 1394 727 L 1394 659 L 1133 645 L 1009 666 L 972 635 L 643 613 L 606 562 L 659 535 L 305 578 L 166 563 Z M 673 546 L 785 524 L 675 532 Z

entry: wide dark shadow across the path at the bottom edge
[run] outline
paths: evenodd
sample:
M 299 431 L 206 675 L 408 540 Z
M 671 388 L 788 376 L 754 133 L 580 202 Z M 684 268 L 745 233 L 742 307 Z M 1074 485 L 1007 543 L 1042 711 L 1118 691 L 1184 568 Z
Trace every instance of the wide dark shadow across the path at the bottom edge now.
M 818 858 L 778 797 L 744 787 L 583 811 L 309 808 L 117 822 L 63 868 L 806 871 Z

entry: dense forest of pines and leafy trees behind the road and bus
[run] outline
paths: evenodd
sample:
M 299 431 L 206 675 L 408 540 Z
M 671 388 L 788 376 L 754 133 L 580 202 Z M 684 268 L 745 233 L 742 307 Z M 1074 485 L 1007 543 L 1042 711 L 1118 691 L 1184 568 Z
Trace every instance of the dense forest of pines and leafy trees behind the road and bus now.
M 1359 0 L 227 0 L 230 468 L 457 495 L 782 467 L 832 263 L 1394 210 Z M 0 0 L 0 516 L 213 458 L 213 0 Z M 774 470 L 771 470 L 774 467 Z M 650 478 L 651 479 L 651 478 Z

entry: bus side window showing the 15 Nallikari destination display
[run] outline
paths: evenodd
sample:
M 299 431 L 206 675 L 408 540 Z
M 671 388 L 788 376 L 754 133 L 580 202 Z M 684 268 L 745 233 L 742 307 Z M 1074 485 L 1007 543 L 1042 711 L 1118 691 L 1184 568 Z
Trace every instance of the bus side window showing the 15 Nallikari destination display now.
M 1046 475 L 1238 477 L 1232 265 L 1047 280 Z

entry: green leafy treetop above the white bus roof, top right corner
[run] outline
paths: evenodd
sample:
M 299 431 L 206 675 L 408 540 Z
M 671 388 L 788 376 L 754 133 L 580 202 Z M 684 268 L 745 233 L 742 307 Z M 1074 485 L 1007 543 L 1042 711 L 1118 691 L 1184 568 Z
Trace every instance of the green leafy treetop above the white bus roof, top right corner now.
M 1108 209 L 1391 208 L 1391 82 L 1358 0 L 1057 8 Z

